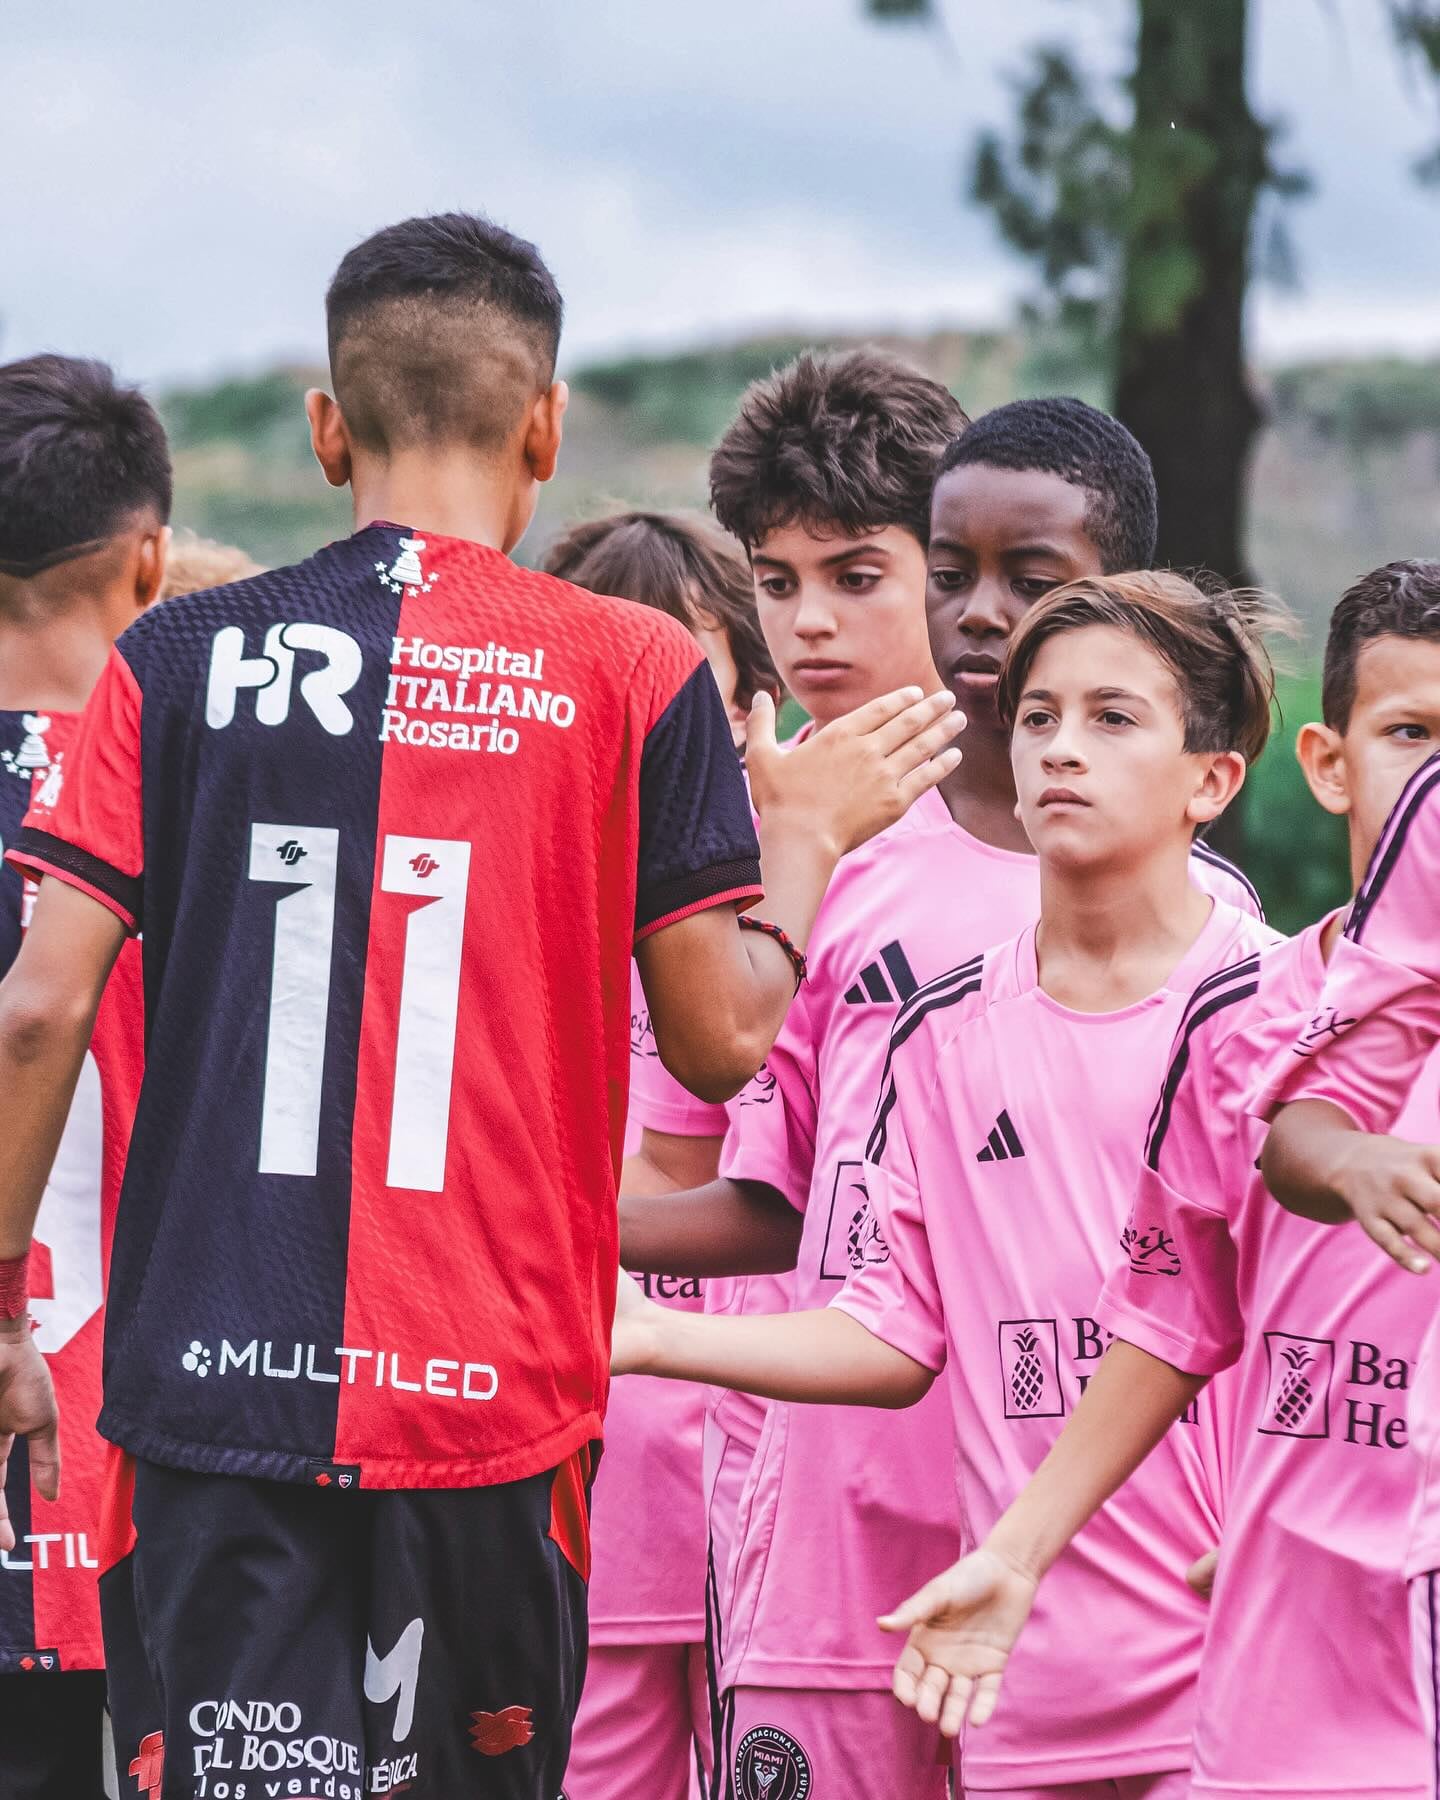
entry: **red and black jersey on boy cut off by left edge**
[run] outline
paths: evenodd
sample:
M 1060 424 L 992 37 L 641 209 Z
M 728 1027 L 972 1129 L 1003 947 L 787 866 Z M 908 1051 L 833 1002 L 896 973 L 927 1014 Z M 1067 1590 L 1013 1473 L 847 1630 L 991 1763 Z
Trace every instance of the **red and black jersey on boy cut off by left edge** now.
M 58 797 L 79 715 L 0 713 L 0 844 L 22 819 L 43 821 Z M 0 976 L 20 950 L 34 884 L 0 873 Z M 5 1505 L 16 1546 L 0 1552 L 0 1672 L 103 1669 L 99 1597 L 103 1458 L 101 1409 L 104 1278 L 121 1174 L 140 1089 L 144 1039 L 140 950 L 126 943 L 104 990 L 70 1118 L 36 1219 L 31 1312 L 50 1361 L 63 1429 L 59 1499 L 31 1483 L 16 1438 Z

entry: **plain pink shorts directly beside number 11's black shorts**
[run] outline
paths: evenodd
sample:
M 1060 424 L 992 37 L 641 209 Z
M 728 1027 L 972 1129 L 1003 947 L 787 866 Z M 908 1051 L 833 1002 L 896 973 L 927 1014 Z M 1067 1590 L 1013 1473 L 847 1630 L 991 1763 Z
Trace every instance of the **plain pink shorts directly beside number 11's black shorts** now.
M 565 1800 L 697 1800 L 709 1766 L 704 1643 L 590 1645 Z

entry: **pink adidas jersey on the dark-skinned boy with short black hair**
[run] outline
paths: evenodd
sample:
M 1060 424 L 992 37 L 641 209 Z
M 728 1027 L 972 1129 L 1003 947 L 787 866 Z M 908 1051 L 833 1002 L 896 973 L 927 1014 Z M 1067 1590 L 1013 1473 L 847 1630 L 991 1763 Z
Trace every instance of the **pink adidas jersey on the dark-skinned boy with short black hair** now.
M 846 857 L 810 940 L 810 979 L 733 1105 L 722 1172 L 805 1211 L 794 1305 L 823 1307 L 871 1251 L 864 1138 L 889 1030 L 958 950 L 1039 907 L 1035 859 L 959 830 L 938 794 Z M 756 1307 L 747 1296 L 747 1310 Z M 949 1399 L 907 1413 L 769 1406 L 740 1501 L 725 1687 L 889 1688 L 875 1625 L 958 1553 Z

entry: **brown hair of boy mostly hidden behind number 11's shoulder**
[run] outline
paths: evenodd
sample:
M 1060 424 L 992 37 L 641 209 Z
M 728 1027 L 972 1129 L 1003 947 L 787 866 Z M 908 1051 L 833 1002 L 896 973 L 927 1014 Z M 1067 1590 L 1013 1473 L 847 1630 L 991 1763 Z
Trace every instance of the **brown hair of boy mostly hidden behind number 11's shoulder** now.
M 691 513 L 610 513 L 556 538 L 545 574 L 592 594 L 655 607 L 686 630 L 718 626 L 734 657 L 736 704 L 749 711 L 761 691 L 779 693 L 779 675 L 760 634 L 754 581 L 740 547 Z

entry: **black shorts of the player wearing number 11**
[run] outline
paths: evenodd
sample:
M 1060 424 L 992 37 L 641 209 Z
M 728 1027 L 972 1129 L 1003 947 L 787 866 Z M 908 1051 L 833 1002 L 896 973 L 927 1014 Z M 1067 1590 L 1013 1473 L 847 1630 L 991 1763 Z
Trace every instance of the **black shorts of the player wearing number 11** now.
M 585 1674 L 585 1453 L 502 1487 L 135 1469 L 101 1577 L 131 1800 L 554 1800 Z

